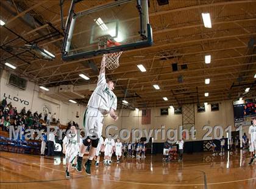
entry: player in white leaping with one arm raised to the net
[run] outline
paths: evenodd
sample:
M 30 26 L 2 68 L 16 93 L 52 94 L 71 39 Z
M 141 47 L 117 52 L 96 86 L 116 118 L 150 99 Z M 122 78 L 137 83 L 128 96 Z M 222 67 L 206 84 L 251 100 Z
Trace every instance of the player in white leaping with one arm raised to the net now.
M 115 89 L 113 81 L 107 82 L 105 79 L 105 57 L 103 57 L 98 83 L 88 101 L 87 110 L 84 114 L 85 136 L 87 138 L 83 140 L 83 145 L 81 145 L 79 156 L 77 157 L 76 170 L 79 172 L 82 171 L 82 159 L 86 146 L 91 144 L 88 160 L 84 165 L 85 173 L 91 174 L 91 160 L 93 160 L 96 154 L 99 137 L 102 133 L 103 115 L 109 113 L 112 119 L 118 119 L 118 116 L 115 114 L 117 99 L 113 89 Z

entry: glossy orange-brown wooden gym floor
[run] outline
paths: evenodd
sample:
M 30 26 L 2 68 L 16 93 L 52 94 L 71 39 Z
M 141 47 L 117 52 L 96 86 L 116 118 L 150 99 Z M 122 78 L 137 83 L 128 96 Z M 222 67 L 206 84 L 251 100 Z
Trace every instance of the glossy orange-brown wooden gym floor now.
M 224 157 L 210 153 L 185 154 L 183 162 L 163 163 L 162 156 L 140 162 L 125 159 L 105 167 L 92 167 L 91 176 L 73 171 L 65 178 L 63 157 L 1 153 L 0 188 L 255 188 L 256 165 L 249 154 Z M 229 157 L 229 159 L 228 159 Z M 115 157 L 112 157 L 115 160 Z M 85 160 L 84 160 L 85 161 Z

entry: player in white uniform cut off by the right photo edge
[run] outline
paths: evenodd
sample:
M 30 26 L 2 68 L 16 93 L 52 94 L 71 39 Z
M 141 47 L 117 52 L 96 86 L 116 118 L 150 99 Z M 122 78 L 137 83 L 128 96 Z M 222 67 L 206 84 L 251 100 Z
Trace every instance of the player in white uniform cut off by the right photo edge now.
M 252 125 L 249 127 L 249 151 L 251 152 L 251 160 L 249 165 L 252 165 L 256 154 L 256 119 L 252 119 Z

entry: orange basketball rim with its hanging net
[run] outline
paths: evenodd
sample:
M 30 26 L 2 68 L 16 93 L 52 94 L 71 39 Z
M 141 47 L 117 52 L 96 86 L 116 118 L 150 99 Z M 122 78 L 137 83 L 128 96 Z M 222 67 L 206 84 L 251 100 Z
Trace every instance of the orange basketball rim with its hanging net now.
M 112 42 L 111 40 L 107 40 L 107 47 L 120 46 L 120 45 L 121 45 L 121 43 Z M 103 57 L 105 57 L 105 67 L 107 67 L 108 70 L 113 70 L 113 69 L 118 68 L 119 57 L 121 56 L 122 52 L 123 51 L 107 53 L 107 54 L 103 55 Z

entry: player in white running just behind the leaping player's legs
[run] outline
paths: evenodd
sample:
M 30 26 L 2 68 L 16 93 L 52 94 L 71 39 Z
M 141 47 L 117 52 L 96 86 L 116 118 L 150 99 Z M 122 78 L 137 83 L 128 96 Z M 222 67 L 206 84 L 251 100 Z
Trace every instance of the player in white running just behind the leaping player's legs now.
M 65 154 L 66 159 L 66 178 L 69 179 L 69 171 L 71 170 L 71 165 L 76 159 L 77 153 L 79 153 L 79 146 L 82 140 L 78 139 L 76 126 L 70 127 L 71 133 L 63 139 L 63 154 Z

